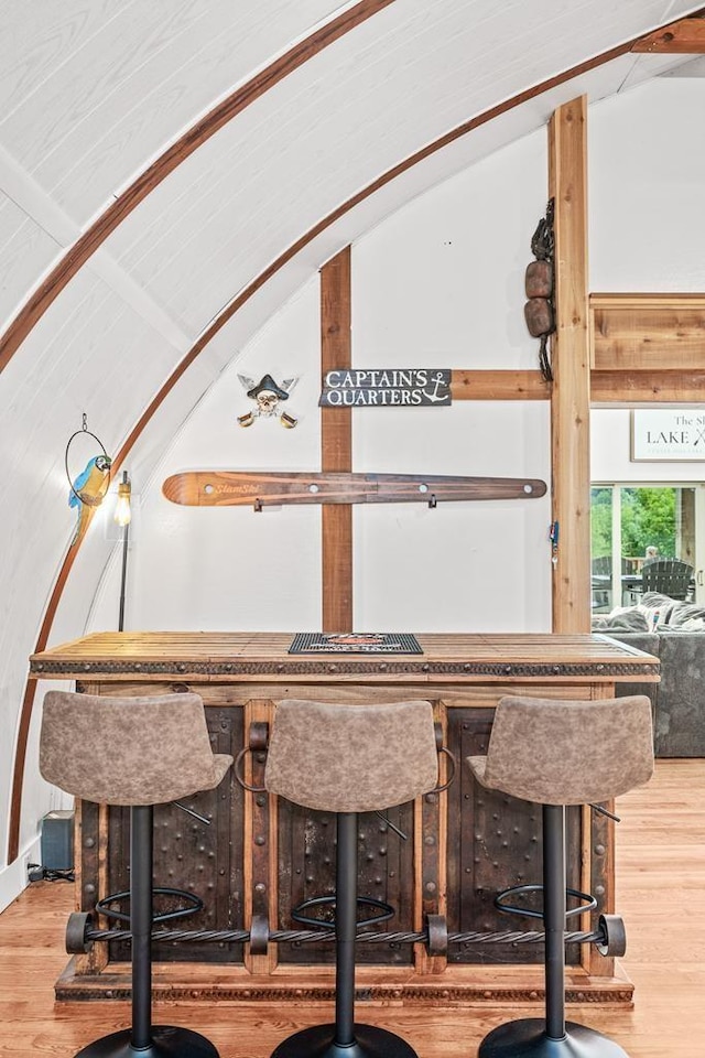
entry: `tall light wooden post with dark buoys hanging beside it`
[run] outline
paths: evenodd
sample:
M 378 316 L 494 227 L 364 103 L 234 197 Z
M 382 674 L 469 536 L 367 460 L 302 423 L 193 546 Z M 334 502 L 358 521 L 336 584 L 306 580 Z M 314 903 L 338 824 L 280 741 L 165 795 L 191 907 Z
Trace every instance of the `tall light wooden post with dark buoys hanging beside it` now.
M 555 199 L 556 331 L 551 396 L 553 630 L 590 628 L 589 338 L 585 96 L 560 107 L 549 126 L 549 194 Z

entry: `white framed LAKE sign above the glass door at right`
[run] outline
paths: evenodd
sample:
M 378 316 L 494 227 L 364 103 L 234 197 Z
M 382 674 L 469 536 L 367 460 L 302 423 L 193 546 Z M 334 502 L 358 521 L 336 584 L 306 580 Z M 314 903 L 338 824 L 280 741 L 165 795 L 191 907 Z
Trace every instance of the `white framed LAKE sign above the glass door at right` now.
M 705 461 L 705 407 L 634 409 L 631 462 Z

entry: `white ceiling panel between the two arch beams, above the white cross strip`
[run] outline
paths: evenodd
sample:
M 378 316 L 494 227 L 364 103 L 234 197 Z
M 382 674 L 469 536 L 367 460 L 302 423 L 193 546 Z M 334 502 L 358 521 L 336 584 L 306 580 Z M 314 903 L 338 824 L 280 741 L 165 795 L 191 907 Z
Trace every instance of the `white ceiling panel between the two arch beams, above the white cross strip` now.
M 629 39 L 649 9 L 654 20 L 662 10 L 634 0 L 596 22 L 589 0 L 544 3 L 549 44 L 533 7 L 469 7 L 473 19 L 460 0 L 393 4 L 326 48 L 167 177 L 121 225 L 111 252 L 181 327 L 198 332 L 400 159 L 555 68 Z

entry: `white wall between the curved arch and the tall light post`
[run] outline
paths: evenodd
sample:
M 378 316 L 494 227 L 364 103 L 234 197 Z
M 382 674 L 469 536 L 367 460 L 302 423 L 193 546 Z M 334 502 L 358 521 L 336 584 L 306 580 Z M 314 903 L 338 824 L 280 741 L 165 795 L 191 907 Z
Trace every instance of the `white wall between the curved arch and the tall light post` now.
M 517 181 L 517 173 L 522 174 Z M 522 367 L 523 271 L 545 207 L 545 137 L 532 137 L 412 203 L 352 249 L 352 360 L 377 367 Z M 170 474 L 206 467 L 317 471 L 319 295 L 308 283 L 204 398 L 141 493 L 127 628 L 317 629 L 321 508 L 180 507 Z M 238 379 L 297 376 L 294 430 L 237 415 Z M 549 408 L 458 401 L 449 409 L 356 409 L 354 469 L 549 481 Z M 394 630 L 550 628 L 550 501 L 358 506 L 355 625 Z M 115 627 L 119 562 L 91 627 Z M 112 618 L 113 620 L 115 618 Z

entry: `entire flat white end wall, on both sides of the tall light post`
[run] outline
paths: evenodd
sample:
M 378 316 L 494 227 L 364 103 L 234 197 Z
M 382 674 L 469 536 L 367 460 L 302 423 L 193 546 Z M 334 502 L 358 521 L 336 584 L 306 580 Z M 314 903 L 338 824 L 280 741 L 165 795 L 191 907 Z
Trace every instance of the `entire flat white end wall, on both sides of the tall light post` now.
M 592 290 L 705 288 L 705 149 L 688 134 L 704 104 L 704 80 L 663 79 L 590 108 Z M 417 198 L 354 245 L 356 366 L 536 366 L 536 342 L 523 322 L 523 273 L 545 207 L 545 172 L 540 132 Z M 127 627 L 319 627 L 317 507 L 199 510 L 169 504 L 160 492 L 166 476 L 185 468 L 319 468 L 318 313 L 314 282 L 223 374 L 158 479 L 137 483 L 142 523 L 130 557 Z M 300 417 L 295 430 L 270 421 L 237 425 L 249 406 L 238 374 L 259 379 L 264 371 L 300 376 L 289 401 Z M 663 464 L 629 464 L 628 412 L 596 410 L 592 424 L 595 479 L 663 479 Z M 550 478 L 542 402 L 358 409 L 352 438 L 356 471 Z M 693 464 L 669 465 L 671 479 L 694 476 Z M 549 629 L 549 522 L 547 496 L 435 510 L 357 506 L 356 626 Z M 118 572 L 116 561 L 91 627 L 111 612 Z

